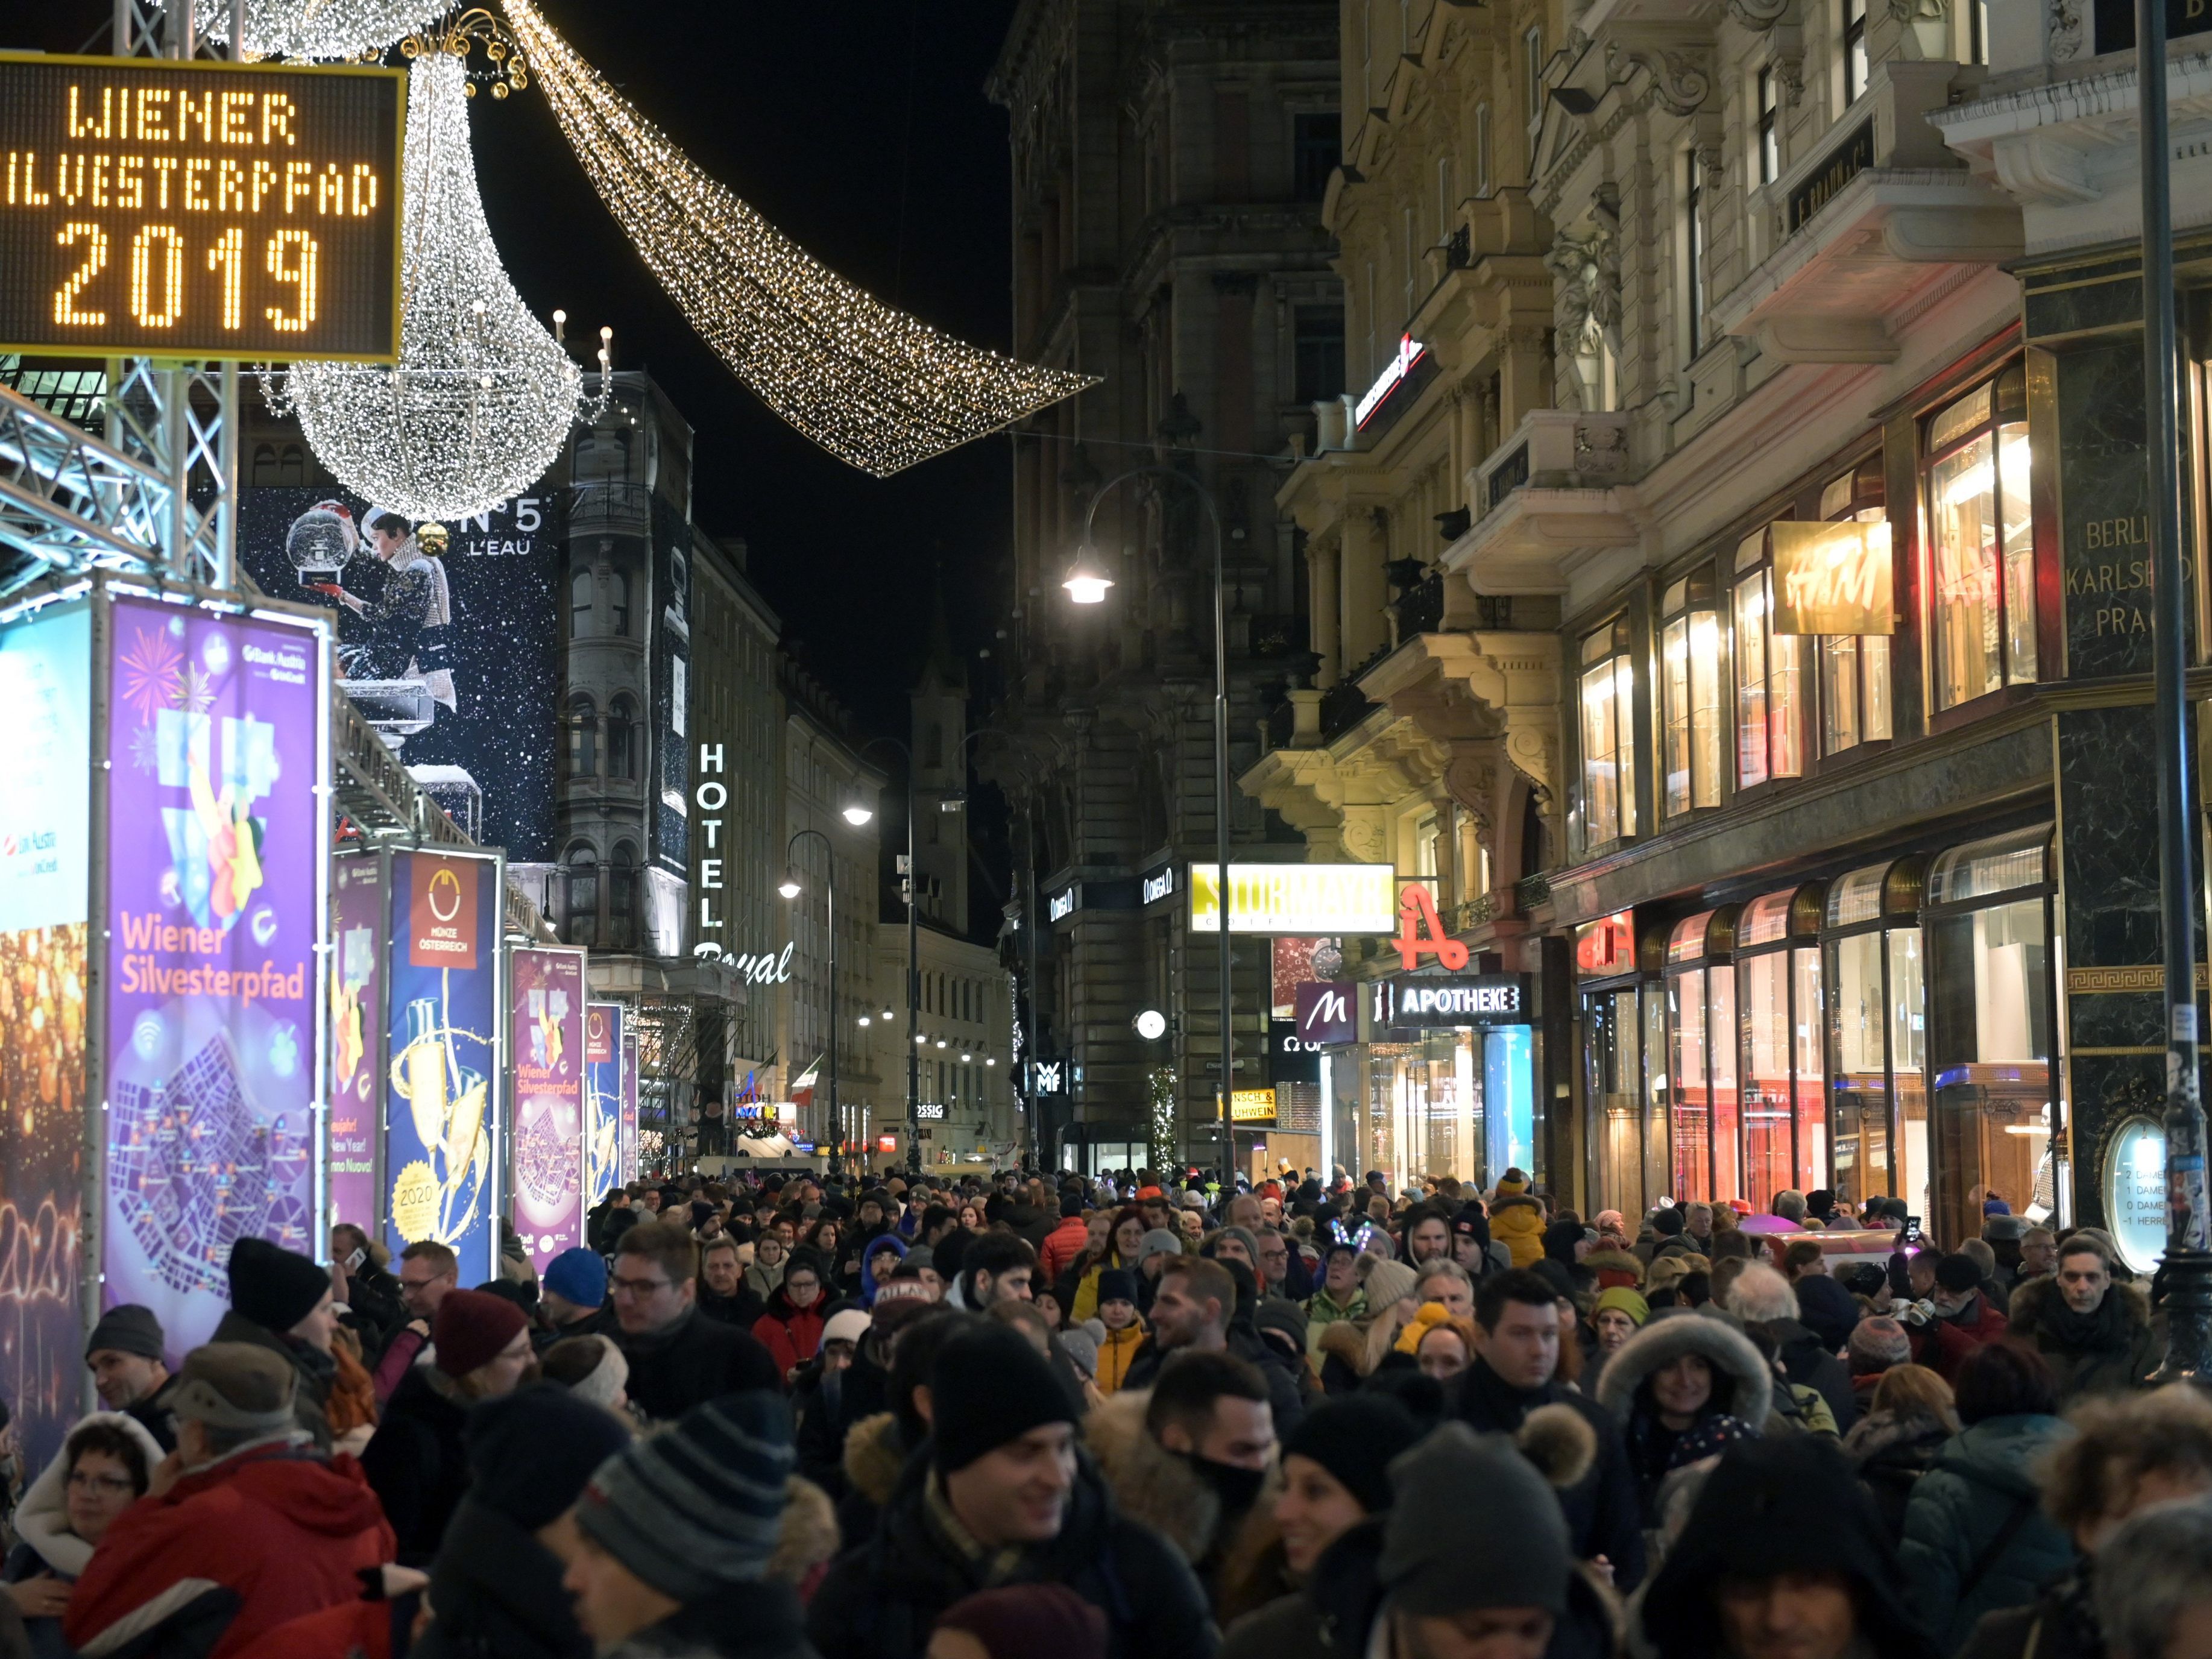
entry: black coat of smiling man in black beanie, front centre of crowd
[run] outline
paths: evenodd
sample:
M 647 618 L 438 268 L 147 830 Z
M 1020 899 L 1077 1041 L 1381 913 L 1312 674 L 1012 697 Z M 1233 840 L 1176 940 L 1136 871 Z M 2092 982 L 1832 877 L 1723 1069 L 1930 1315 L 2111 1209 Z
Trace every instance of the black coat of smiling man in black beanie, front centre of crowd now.
M 920 1659 L 953 1601 L 991 1588 L 929 1517 L 927 1447 L 898 1478 L 876 1537 L 832 1562 L 807 1604 L 823 1659 Z M 1029 1548 L 1000 1584 L 1066 1584 L 1106 1615 L 1106 1659 L 1212 1659 L 1217 1632 L 1181 1553 L 1119 1515 L 1088 1453 L 1077 1453 L 1060 1537 Z

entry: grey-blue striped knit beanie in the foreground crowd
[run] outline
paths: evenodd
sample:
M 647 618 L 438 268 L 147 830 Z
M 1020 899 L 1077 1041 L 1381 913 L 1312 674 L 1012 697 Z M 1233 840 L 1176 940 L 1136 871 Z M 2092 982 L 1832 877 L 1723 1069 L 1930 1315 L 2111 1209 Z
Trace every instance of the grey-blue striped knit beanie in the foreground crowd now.
M 776 1394 L 726 1394 L 599 1464 L 575 1524 L 677 1601 L 768 1577 L 796 1462 Z

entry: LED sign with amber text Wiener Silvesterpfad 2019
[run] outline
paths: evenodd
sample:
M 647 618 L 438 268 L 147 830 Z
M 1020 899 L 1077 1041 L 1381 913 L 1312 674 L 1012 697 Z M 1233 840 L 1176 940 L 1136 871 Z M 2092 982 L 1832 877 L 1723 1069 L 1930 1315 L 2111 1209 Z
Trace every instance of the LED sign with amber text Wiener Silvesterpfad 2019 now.
M 0 349 L 394 361 L 405 102 L 396 69 L 0 53 Z

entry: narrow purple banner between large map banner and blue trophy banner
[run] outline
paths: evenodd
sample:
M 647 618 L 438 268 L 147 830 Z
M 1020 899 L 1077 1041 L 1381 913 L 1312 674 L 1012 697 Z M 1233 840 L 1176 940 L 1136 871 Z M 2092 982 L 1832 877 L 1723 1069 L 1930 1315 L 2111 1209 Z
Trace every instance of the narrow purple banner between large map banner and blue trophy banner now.
M 334 860 L 330 942 L 330 1221 L 352 1221 L 374 1239 L 385 1053 L 385 865 L 376 854 Z

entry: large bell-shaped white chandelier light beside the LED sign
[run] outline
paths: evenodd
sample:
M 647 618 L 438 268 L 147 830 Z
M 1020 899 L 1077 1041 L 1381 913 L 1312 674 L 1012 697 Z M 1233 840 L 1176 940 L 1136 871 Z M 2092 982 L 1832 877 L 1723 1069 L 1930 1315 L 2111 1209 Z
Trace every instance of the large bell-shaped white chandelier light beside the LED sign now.
M 361 498 L 414 520 L 482 513 L 560 456 L 580 411 L 613 387 L 599 330 L 599 398 L 500 268 L 469 155 L 467 64 L 438 46 L 407 77 L 400 361 L 294 363 L 270 387 L 316 458 Z

